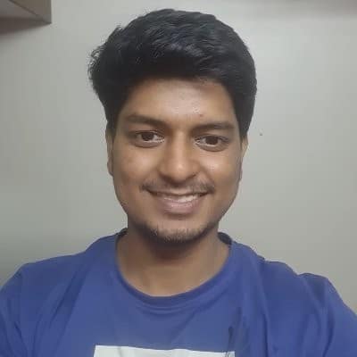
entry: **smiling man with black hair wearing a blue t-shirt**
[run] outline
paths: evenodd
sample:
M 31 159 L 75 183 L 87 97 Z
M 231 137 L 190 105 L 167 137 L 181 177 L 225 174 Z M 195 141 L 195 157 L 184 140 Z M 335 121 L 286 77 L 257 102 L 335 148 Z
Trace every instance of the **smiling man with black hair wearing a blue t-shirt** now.
M 0 293 L 0 356 L 357 356 L 357 318 L 326 278 L 218 231 L 256 92 L 233 29 L 150 12 L 115 29 L 89 73 L 128 228 L 23 266 Z

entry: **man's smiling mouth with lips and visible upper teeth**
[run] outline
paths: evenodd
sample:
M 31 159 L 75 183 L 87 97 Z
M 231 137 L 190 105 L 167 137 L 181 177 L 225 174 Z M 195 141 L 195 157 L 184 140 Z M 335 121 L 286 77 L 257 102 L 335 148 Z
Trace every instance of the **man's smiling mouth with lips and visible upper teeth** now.
M 198 210 L 206 192 L 173 194 L 170 192 L 150 192 L 160 209 L 169 214 L 188 215 Z

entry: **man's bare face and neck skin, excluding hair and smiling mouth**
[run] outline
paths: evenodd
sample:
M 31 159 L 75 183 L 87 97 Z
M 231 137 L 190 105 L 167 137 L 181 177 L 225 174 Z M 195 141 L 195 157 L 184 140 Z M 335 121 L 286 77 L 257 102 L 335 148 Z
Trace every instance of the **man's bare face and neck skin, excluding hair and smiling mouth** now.
M 247 147 L 226 89 L 208 80 L 146 79 L 105 137 L 108 171 L 128 216 L 117 250 L 123 277 L 155 296 L 212 278 L 228 256 L 219 222 L 236 198 Z M 162 192 L 204 195 L 195 209 L 177 212 L 162 205 Z

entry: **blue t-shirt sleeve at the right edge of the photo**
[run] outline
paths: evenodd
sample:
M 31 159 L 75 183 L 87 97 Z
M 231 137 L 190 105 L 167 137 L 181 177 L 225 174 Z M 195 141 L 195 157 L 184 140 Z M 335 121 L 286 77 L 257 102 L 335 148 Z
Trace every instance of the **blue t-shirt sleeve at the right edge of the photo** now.
M 321 357 L 357 356 L 357 315 L 345 305 L 327 278 L 306 274 L 308 284 L 319 296 L 320 336 L 316 341 Z

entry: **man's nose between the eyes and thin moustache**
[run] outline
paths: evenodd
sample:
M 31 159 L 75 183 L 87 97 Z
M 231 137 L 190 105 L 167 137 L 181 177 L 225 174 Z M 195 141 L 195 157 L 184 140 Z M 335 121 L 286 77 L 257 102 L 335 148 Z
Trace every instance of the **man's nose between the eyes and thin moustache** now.
M 175 137 L 165 145 L 159 163 L 163 179 L 179 185 L 197 175 L 199 163 L 193 146 L 186 137 Z

